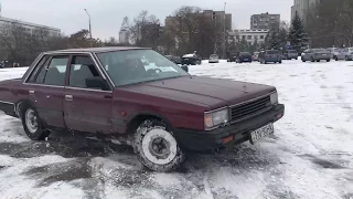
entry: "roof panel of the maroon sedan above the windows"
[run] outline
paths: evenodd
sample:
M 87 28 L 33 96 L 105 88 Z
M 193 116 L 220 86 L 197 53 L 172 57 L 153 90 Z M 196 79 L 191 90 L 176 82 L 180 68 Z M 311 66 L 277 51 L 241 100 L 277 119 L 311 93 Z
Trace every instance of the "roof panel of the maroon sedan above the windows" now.
M 46 53 L 100 53 L 111 51 L 128 51 L 128 50 L 147 50 L 149 48 L 137 46 L 109 46 L 109 48 L 87 48 L 87 49 L 65 49 L 58 51 L 49 51 Z

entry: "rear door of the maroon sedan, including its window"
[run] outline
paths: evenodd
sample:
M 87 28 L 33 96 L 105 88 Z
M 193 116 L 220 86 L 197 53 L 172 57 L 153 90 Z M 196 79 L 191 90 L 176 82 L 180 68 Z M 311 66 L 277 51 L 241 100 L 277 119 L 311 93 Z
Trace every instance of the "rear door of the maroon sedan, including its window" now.
M 34 103 L 46 126 L 64 128 L 63 98 L 66 77 L 67 55 L 45 55 L 30 76 L 30 100 Z

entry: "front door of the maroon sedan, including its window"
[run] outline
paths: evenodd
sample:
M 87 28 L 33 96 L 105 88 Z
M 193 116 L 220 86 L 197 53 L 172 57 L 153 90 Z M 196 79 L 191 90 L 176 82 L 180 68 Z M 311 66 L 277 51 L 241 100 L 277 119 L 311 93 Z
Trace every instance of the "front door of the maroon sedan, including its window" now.
M 64 94 L 64 118 L 67 127 L 85 133 L 111 133 L 113 91 L 89 88 L 87 77 L 101 76 L 89 54 L 73 55 Z

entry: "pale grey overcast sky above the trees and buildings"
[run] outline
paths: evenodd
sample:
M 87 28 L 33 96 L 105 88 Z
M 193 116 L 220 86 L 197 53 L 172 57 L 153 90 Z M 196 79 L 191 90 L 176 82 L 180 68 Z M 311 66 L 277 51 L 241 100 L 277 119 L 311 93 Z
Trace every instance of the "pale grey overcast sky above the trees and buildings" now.
M 167 15 L 181 6 L 223 10 L 233 14 L 233 29 L 248 29 L 254 13 L 279 13 L 281 20 L 290 20 L 293 0 L 0 0 L 2 17 L 55 27 L 65 34 L 88 29 L 84 9 L 92 17 L 95 38 L 118 39 L 125 15 L 133 19 L 141 10 L 148 10 L 164 23 Z

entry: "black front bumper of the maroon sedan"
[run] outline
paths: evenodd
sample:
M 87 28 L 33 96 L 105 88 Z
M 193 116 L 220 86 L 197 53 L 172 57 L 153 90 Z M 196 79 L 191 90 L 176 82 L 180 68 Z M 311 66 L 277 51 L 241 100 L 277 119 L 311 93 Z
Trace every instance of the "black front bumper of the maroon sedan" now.
M 180 146 L 188 150 L 213 150 L 249 140 L 249 133 L 268 123 L 275 123 L 285 115 L 285 105 L 275 105 L 270 111 L 211 132 L 174 129 Z M 223 143 L 224 138 L 234 135 L 234 140 Z

